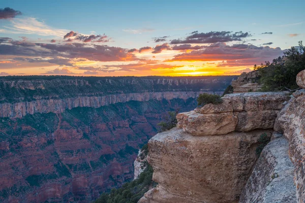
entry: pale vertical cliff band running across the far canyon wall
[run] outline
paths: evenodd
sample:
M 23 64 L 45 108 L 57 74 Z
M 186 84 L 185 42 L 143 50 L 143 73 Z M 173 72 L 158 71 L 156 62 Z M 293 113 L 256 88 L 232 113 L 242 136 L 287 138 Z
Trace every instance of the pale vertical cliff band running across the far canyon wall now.
M 62 99 L 37 99 L 18 103 L 3 103 L 0 104 L 0 117 L 21 118 L 27 114 L 35 113 L 63 113 L 67 109 L 71 110 L 76 107 L 99 108 L 116 103 L 126 103 L 131 100 L 170 100 L 173 98 L 186 100 L 190 97 L 196 98 L 200 93 L 202 91 L 121 93 L 105 96 L 79 96 Z

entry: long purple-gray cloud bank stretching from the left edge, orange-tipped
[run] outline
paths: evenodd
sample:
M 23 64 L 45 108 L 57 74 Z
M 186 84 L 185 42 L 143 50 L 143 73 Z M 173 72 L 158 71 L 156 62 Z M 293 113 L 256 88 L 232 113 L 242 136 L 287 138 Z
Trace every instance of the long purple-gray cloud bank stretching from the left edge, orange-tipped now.
M 96 61 L 131 61 L 140 60 L 127 49 L 106 45 L 83 43 L 45 44 L 13 41 L 11 44 L 0 44 L 0 55 L 51 57 L 51 58 L 84 58 Z

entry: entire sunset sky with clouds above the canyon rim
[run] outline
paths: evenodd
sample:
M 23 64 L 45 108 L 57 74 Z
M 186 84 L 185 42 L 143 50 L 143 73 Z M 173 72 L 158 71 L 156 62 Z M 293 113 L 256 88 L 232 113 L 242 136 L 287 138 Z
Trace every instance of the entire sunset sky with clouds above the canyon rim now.
M 0 2 L 0 76 L 239 75 L 305 39 L 305 1 Z

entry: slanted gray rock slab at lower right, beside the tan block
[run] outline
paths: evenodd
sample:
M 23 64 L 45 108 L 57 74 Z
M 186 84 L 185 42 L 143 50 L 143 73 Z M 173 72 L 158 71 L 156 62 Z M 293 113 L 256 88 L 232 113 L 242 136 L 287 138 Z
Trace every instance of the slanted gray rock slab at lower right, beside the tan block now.
M 271 141 L 262 151 L 243 189 L 239 203 L 296 202 L 293 183 L 294 165 L 285 138 Z

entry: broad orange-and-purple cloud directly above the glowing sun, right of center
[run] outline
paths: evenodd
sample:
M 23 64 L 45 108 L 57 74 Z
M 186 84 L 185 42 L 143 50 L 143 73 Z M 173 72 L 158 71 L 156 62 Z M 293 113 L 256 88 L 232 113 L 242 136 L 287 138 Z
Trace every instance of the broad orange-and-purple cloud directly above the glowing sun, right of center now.
M 283 55 L 283 52 L 284 50 L 279 47 L 258 47 L 247 44 L 229 46 L 225 43 L 218 43 L 190 53 L 175 55 L 166 61 L 224 61 L 219 66 L 243 66 L 272 60 Z

